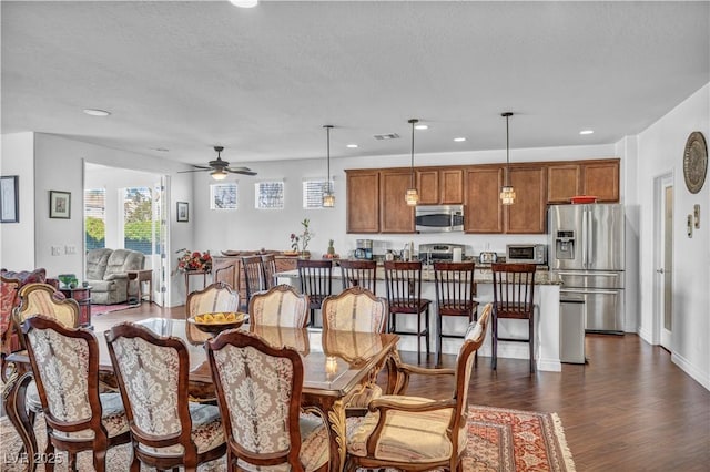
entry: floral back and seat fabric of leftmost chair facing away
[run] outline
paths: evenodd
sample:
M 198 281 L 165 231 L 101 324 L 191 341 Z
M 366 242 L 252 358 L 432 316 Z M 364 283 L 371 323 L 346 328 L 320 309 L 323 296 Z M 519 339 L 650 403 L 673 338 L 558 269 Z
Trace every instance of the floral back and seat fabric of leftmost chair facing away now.
M 88 421 L 91 419 L 89 404 L 89 345 L 84 339 L 62 336 L 53 329 L 31 329 L 28 339 L 44 392 L 47 408 L 59 421 L 67 423 Z M 27 398 L 30 408 L 34 408 L 33 398 L 37 386 L 32 382 Z M 39 399 L 39 396 L 37 396 Z M 128 421 L 123 410 L 121 397 L 118 393 L 100 396 L 102 404 L 102 421 L 109 435 L 116 435 L 128 431 Z M 74 432 L 54 431 L 64 439 L 85 440 L 94 437 L 92 430 Z

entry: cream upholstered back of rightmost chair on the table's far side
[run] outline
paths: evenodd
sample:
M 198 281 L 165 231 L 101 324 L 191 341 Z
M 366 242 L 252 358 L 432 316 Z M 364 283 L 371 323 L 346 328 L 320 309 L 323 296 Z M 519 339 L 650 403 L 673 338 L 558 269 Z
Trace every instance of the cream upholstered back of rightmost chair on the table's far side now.
M 345 294 L 329 298 L 323 309 L 328 329 L 344 331 L 379 332 L 387 316 L 384 299 L 376 301 L 364 294 Z

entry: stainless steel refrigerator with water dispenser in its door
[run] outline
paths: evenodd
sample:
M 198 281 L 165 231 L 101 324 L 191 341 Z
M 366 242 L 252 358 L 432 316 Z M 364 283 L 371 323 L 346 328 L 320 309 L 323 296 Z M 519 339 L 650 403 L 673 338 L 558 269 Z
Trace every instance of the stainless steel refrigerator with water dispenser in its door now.
M 587 331 L 623 334 L 623 205 L 551 205 L 548 216 L 560 307 L 581 302 Z

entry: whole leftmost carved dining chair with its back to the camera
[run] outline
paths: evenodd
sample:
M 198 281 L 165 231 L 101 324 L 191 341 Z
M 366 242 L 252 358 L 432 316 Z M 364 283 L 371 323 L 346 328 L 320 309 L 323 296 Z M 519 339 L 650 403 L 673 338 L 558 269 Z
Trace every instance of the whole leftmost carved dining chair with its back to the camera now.
M 47 422 L 44 453 L 67 451 L 69 470 L 75 470 L 77 453 L 92 451 L 94 469 L 105 471 L 108 449 L 130 442 L 131 435 L 121 396 L 99 393 L 93 331 L 37 315 L 24 320 L 22 334 Z

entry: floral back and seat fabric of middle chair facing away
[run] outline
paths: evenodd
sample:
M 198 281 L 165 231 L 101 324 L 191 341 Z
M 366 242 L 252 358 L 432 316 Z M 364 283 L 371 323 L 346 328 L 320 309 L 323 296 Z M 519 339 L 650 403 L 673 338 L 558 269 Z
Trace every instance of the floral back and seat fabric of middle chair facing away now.
M 141 338 L 116 338 L 113 349 L 125 384 L 135 428 L 145 434 L 168 435 L 182 431 L 178 410 L 180 360 L 173 348 Z M 192 440 L 197 453 L 224 443 L 217 407 L 190 403 Z M 139 448 L 153 454 L 181 455 L 180 444 Z

